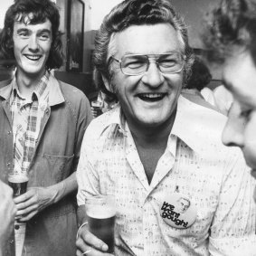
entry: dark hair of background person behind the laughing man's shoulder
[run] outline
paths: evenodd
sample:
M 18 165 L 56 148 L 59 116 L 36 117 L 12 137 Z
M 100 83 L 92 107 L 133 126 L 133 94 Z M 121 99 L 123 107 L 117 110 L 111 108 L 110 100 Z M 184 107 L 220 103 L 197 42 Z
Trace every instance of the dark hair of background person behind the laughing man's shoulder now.
M 210 70 L 200 58 L 196 57 L 186 89 L 202 90 L 211 80 L 212 74 Z

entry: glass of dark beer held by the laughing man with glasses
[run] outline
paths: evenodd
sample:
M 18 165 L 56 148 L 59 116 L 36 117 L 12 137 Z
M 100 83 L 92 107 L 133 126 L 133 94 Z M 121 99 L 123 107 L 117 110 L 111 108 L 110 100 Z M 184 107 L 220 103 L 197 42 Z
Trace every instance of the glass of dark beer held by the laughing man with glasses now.
M 108 252 L 114 252 L 115 245 L 115 197 L 112 194 L 97 194 L 85 199 L 85 211 L 89 230 L 109 246 Z

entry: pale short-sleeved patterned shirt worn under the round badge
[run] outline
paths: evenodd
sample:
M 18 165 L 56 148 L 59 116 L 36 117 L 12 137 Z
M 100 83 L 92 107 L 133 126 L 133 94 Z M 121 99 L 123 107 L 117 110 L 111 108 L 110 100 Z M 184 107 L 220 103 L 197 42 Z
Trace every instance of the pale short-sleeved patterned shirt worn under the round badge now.
M 150 185 L 120 117 L 117 108 L 90 123 L 77 170 L 79 205 L 90 194 L 116 196 L 116 255 L 256 255 L 255 180 L 241 150 L 222 144 L 225 117 L 181 96 Z M 186 229 L 160 214 L 163 199 L 177 188 L 196 209 Z

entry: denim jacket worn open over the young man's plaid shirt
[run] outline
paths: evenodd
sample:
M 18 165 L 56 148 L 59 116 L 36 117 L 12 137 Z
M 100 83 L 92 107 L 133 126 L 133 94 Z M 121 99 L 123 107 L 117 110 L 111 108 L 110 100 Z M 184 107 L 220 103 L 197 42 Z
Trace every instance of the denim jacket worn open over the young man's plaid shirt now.
M 8 172 L 14 166 L 9 102 L 12 87 L 6 83 L 0 82 L 0 179 L 5 183 Z M 92 119 L 90 102 L 81 90 L 57 81 L 53 76 L 50 76 L 49 83 L 49 107 L 45 110 L 28 170 L 28 187 L 54 185 L 76 171 L 82 137 Z M 52 204 L 26 224 L 23 255 L 75 255 L 75 195 L 76 192 Z M 4 255 L 11 255 L 10 248 Z

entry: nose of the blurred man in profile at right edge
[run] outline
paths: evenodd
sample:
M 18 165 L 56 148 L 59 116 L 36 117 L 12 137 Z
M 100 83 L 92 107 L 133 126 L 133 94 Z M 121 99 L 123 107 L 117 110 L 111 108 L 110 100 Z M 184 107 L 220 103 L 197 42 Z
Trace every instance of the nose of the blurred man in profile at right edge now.
M 223 144 L 228 147 L 243 147 L 243 133 L 244 121 L 240 117 L 238 106 L 233 104 L 223 129 Z

